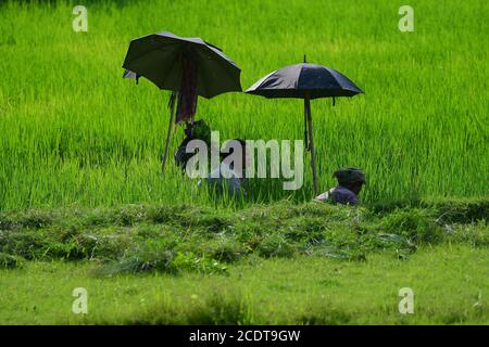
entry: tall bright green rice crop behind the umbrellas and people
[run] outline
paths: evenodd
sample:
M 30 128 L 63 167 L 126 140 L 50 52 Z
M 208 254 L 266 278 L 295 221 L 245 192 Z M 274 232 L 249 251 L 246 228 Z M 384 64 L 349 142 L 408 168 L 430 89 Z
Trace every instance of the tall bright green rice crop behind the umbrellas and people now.
M 313 102 L 322 189 L 354 165 L 366 170 L 369 203 L 487 193 L 485 0 L 410 1 L 408 34 L 390 0 L 88 1 L 86 34 L 72 30 L 73 5 L 1 4 L 0 209 L 209 204 L 195 181 L 160 172 L 168 93 L 121 78 L 129 40 L 159 30 L 223 48 L 244 88 L 308 53 L 364 89 L 335 107 Z M 197 117 L 223 139 L 302 138 L 297 100 L 225 94 L 201 99 Z M 279 187 L 261 184 L 248 200 L 290 194 Z M 309 170 L 291 197 L 311 197 Z

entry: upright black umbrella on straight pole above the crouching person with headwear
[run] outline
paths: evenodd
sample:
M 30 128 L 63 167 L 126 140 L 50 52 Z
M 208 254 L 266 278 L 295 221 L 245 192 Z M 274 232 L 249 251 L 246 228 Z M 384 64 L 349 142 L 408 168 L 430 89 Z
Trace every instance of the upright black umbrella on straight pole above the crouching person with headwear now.
M 305 63 L 289 65 L 261 78 L 247 93 L 273 98 L 304 100 L 304 137 L 311 151 L 314 193 L 317 194 L 316 156 L 314 152 L 311 99 L 353 97 L 363 91 L 341 73 L 326 66 Z

